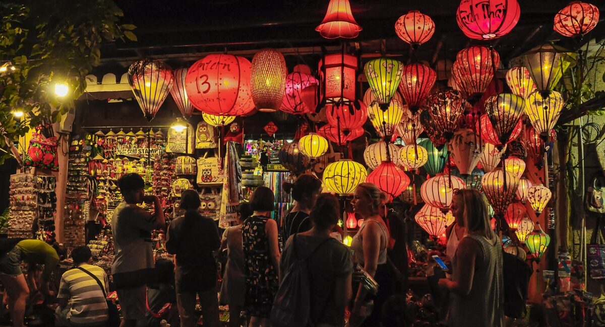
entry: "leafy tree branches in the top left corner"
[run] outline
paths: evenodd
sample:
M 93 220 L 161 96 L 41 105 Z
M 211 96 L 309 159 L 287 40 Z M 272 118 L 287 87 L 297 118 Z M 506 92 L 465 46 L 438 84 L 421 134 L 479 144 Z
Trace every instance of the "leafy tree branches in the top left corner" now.
M 100 63 L 100 45 L 126 37 L 134 25 L 120 25 L 122 10 L 112 0 L 4 0 L 0 2 L 0 163 L 10 142 L 30 127 L 59 121 L 86 87 L 85 77 Z M 15 69 L 11 69 L 14 67 Z M 65 100 L 54 83 L 66 83 Z M 22 110 L 24 118 L 12 114 Z

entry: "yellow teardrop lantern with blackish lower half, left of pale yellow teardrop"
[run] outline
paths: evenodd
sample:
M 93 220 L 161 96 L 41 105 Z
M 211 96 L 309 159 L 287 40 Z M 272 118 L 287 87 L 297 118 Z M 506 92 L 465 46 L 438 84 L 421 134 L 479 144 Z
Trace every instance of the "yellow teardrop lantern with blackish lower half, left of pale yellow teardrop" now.
M 492 123 L 492 127 L 500 144 L 511 140 L 511 135 L 523 115 L 525 99 L 511 93 L 502 93 L 489 97 L 485 101 L 485 113 Z

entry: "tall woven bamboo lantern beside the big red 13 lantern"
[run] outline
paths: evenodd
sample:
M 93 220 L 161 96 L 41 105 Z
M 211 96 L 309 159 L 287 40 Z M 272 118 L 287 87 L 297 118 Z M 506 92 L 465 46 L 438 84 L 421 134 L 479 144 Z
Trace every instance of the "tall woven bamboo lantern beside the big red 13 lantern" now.
M 286 60 L 280 51 L 264 49 L 252 57 L 250 93 L 260 112 L 280 109 L 286 93 Z

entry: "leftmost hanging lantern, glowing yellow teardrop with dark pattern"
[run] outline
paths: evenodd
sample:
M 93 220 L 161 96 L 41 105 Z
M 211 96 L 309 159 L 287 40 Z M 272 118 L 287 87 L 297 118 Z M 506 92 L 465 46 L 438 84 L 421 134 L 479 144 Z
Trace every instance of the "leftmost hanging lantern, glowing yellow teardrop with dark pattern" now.
M 130 65 L 127 77 L 143 115 L 151 121 L 172 89 L 172 69 L 160 60 L 143 59 Z

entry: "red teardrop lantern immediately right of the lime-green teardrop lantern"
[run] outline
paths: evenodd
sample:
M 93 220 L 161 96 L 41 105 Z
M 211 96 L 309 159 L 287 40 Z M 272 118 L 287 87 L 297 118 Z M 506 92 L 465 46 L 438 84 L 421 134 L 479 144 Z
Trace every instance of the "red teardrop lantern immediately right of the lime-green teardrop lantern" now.
M 437 73 L 422 63 L 405 65 L 401 73 L 399 92 L 404 97 L 405 103 L 410 106 L 412 113 L 416 113 L 422 101 L 427 98 L 437 79 Z

